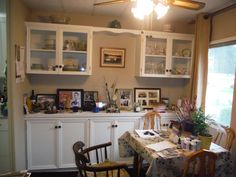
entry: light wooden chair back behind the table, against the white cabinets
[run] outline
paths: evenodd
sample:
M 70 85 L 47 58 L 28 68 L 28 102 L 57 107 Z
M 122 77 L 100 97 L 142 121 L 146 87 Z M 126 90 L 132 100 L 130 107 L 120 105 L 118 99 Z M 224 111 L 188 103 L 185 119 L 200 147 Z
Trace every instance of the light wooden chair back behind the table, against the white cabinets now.
M 161 130 L 161 117 L 158 112 L 151 111 L 145 114 L 143 129 L 158 129 Z

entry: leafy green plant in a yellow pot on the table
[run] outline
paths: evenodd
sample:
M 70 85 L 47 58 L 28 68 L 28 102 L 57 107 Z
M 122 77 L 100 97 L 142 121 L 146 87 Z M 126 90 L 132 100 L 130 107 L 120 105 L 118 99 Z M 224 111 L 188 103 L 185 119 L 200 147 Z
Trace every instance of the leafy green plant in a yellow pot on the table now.
M 202 149 L 209 149 L 212 141 L 207 120 L 209 120 L 209 116 L 205 115 L 202 108 L 198 108 L 192 113 L 193 134 L 199 137 Z

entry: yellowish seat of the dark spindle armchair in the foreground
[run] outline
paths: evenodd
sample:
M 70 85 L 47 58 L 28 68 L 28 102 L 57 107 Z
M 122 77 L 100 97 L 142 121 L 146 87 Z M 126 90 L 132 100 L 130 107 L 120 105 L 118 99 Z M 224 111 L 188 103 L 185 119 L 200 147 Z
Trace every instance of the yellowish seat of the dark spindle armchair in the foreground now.
M 114 166 L 117 165 L 117 162 L 106 160 L 102 163 L 91 165 L 93 167 L 103 167 L 103 166 Z M 106 172 L 97 172 L 97 177 L 105 177 Z M 92 172 L 87 172 L 88 177 L 94 177 L 94 174 Z M 117 177 L 117 170 L 109 171 L 109 177 Z M 120 171 L 120 177 L 130 177 L 129 173 L 125 169 L 121 169 Z

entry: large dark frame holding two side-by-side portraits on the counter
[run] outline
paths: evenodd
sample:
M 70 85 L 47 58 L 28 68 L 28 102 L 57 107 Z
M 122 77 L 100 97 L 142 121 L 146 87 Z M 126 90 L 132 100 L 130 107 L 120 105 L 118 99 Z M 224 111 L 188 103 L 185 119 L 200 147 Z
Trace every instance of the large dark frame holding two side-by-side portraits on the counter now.
M 57 89 L 58 109 L 83 108 L 83 89 Z

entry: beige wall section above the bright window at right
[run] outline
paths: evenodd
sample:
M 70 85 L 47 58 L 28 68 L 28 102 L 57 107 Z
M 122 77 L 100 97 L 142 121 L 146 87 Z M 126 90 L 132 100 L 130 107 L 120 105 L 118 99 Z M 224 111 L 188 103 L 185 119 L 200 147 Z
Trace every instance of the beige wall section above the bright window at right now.
M 212 21 L 212 41 L 236 36 L 236 8 L 216 15 Z

